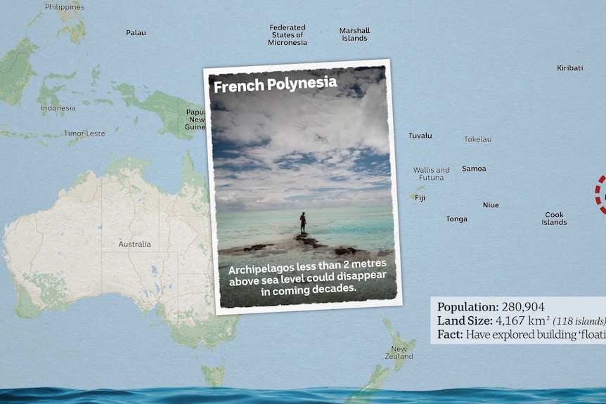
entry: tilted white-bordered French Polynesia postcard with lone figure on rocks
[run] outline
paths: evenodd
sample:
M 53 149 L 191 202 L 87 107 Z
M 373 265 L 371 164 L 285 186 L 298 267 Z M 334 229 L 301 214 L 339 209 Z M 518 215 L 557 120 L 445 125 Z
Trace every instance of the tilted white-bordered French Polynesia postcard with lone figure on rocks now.
M 389 60 L 205 69 L 217 313 L 401 305 Z

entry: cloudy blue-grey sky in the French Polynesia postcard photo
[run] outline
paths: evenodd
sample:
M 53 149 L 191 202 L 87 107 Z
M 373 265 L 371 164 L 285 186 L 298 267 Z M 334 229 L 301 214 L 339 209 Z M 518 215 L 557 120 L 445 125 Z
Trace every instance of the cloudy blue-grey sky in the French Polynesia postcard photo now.
M 213 84 L 337 87 L 214 93 Z M 392 204 L 385 66 L 209 76 L 218 212 Z

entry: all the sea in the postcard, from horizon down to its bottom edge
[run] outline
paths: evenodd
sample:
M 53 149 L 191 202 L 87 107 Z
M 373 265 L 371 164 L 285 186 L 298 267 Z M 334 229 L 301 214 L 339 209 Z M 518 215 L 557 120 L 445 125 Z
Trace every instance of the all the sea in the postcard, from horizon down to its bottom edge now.
M 307 238 L 319 245 L 313 247 L 295 240 L 300 234 L 301 214 L 299 210 L 288 210 L 217 215 L 222 306 L 388 300 L 397 296 L 391 207 L 305 211 Z M 266 247 L 245 250 L 259 244 Z M 337 247 L 352 247 L 355 251 L 337 254 Z M 249 267 L 270 271 L 237 272 L 237 268 Z M 283 278 L 283 273 L 304 278 Z M 372 274 L 373 278 L 358 278 L 364 274 Z

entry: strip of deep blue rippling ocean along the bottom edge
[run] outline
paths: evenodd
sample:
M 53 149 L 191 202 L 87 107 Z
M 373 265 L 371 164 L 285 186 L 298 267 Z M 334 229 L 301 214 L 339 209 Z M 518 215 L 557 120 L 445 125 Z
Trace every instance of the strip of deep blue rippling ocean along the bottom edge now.
M 252 390 L 228 388 L 164 388 L 141 390 L 11 389 L 0 390 L 1 403 L 605 403 L 606 389 L 449 389 L 437 391 L 389 391 L 318 388 L 299 390 Z

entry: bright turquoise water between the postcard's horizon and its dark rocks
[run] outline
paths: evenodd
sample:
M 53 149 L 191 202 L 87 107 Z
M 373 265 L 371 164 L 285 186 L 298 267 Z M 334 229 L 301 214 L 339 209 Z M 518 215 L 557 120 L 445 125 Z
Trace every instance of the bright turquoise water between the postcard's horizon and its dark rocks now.
M 245 211 L 217 214 L 219 250 L 292 240 L 302 211 Z M 391 206 L 309 209 L 305 230 L 323 245 L 376 252 L 394 249 Z

